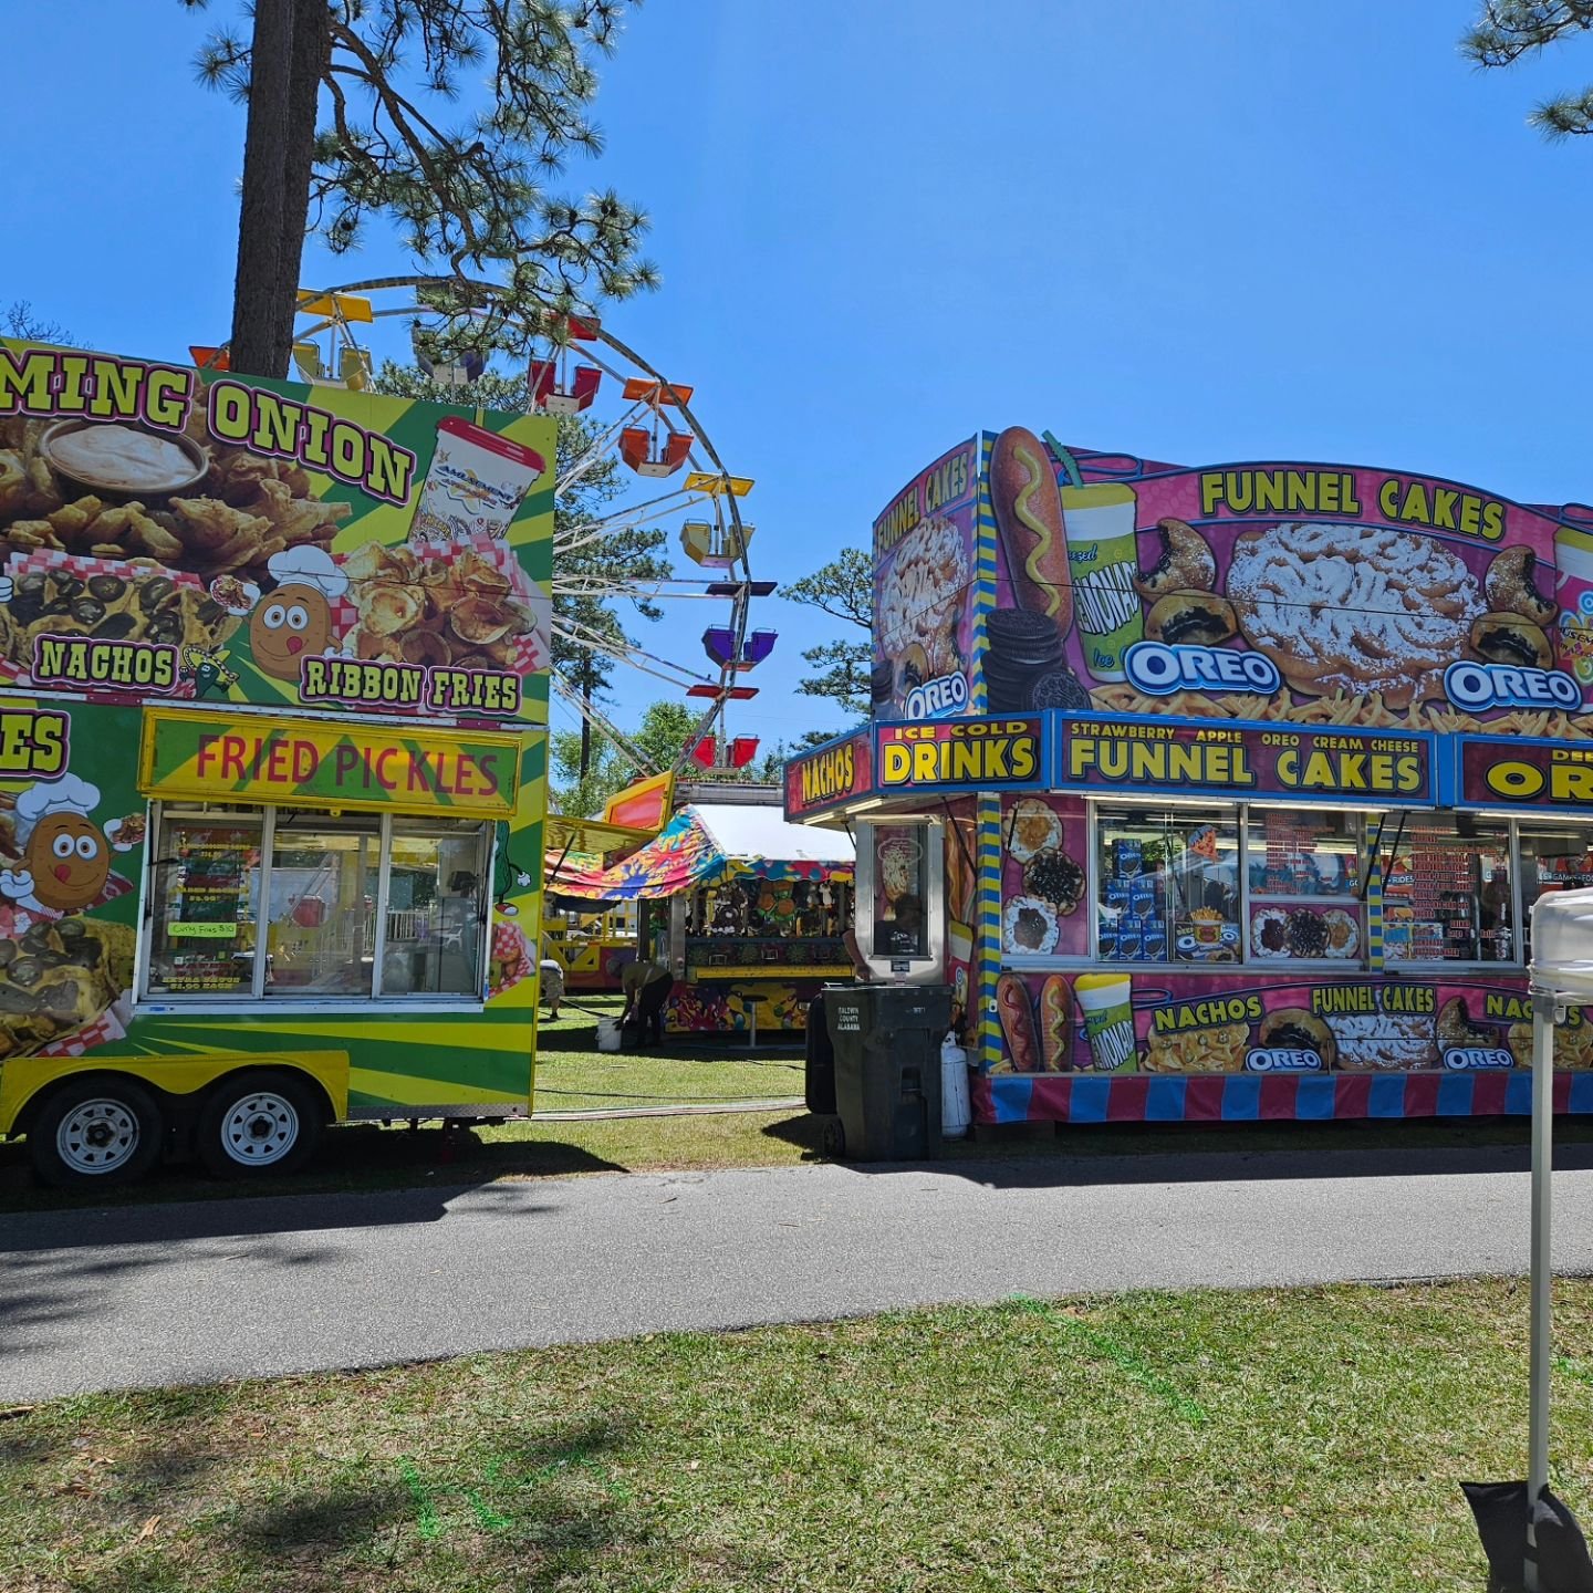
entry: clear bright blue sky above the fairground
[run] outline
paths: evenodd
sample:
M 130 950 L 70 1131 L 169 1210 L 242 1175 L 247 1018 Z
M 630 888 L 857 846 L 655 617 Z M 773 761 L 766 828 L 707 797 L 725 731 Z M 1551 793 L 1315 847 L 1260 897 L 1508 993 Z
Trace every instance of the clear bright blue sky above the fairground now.
M 696 386 L 757 478 L 760 575 L 867 545 L 921 465 L 1013 422 L 1179 464 L 1593 499 L 1593 140 L 1526 126 L 1593 81 L 1593 40 L 1485 76 L 1456 51 L 1474 10 L 652 0 L 604 70 L 609 153 L 569 186 L 653 217 L 664 287 L 609 323 Z M 0 0 L 0 301 L 129 354 L 223 338 L 242 113 L 193 81 L 204 18 Z M 373 233 L 304 276 L 401 266 Z M 782 639 L 733 730 L 840 728 L 790 691 L 819 620 L 755 615 Z M 704 623 L 683 605 L 652 645 L 696 664 Z M 621 722 L 656 695 L 624 680 Z

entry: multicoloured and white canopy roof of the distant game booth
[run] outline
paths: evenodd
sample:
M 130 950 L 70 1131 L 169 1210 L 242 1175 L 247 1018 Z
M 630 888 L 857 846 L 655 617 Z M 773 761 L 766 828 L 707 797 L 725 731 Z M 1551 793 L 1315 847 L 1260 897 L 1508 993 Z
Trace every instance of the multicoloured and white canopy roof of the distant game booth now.
M 701 803 L 682 808 L 647 846 L 610 868 L 575 852 L 562 862 L 550 857 L 545 889 L 588 902 L 624 902 L 680 895 L 733 875 L 849 881 L 852 863 L 852 841 L 844 833 L 787 824 L 779 808 Z

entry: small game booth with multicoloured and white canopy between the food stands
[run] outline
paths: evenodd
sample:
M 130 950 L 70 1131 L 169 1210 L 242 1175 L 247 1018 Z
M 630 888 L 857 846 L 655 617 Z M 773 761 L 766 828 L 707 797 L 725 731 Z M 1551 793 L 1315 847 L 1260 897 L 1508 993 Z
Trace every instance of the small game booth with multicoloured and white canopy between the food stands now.
M 674 1034 L 801 1029 L 819 986 L 852 975 L 851 838 L 787 824 L 779 793 L 760 795 L 691 803 L 618 863 L 572 855 L 550 875 L 561 898 L 640 905 L 644 945 L 675 975 Z

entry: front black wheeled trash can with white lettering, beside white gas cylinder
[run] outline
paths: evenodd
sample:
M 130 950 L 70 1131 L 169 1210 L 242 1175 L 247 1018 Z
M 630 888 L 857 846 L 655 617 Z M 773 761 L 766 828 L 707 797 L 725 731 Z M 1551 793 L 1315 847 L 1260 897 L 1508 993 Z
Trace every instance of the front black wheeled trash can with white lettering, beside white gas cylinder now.
M 940 1155 L 940 1042 L 951 1027 L 945 984 L 827 989 L 835 1109 L 849 1161 Z

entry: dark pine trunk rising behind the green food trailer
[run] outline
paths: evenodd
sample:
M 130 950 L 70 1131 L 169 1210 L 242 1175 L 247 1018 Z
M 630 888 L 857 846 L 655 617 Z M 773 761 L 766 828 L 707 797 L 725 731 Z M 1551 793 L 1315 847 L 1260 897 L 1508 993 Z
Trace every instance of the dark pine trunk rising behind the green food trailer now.
M 280 303 L 280 279 L 295 5 L 255 0 L 231 339 L 231 366 L 249 376 L 287 374 L 293 342 L 292 304 Z

